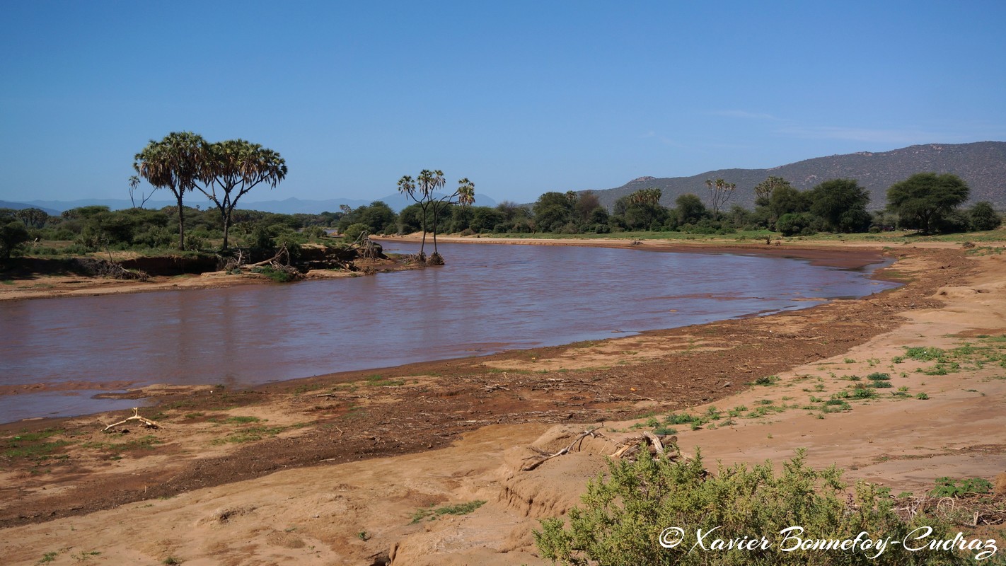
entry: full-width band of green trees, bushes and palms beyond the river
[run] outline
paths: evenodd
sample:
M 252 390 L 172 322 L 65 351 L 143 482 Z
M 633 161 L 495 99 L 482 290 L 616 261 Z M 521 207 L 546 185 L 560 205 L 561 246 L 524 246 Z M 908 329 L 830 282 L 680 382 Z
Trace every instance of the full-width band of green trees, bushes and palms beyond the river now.
M 673 207 L 667 207 L 661 204 L 663 194 L 659 188 L 626 195 L 615 201 L 611 210 L 601 205 L 597 194 L 589 191 L 547 192 L 531 205 L 504 201 L 494 207 L 475 206 L 475 187 L 471 181 L 462 179 L 455 191 L 447 193 L 442 191 L 446 184 L 443 173 L 425 170 L 415 179 L 406 176 L 399 180 L 399 189 L 406 194 L 411 191 L 414 202 L 397 213 L 387 204 L 375 201 L 321 214 L 275 214 L 238 209 L 236 204 L 252 187 L 263 183 L 274 185 L 283 179 L 286 166 L 278 154 L 240 141 L 209 144 L 215 149 L 207 147 L 200 151 L 215 156 L 212 157 L 215 161 L 210 162 L 215 165 L 204 166 L 218 176 L 211 178 L 209 173 L 202 173 L 203 180 L 199 180 L 188 177 L 187 170 L 179 165 L 191 158 L 187 150 L 179 148 L 203 142 L 193 138 L 194 135 L 177 135 L 177 139 L 172 136 L 166 138 L 167 142 L 152 142 L 152 146 L 138 155 L 138 172 L 169 190 L 193 187 L 191 190 L 203 191 L 212 206 L 200 210 L 198 206 L 183 204 L 160 210 L 134 207 L 117 211 L 106 206 L 83 206 L 58 216 L 37 208 L 0 209 L 0 260 L 9 259 L 26 242 L 36 240 L 33 253 L 41 254 L 171 247 L 220 250 L 234 240 L 242 248 L 268 251 L 286 245 L 296 251 L 308 241 L 335 243 L 328 237 L 332 231 L 350 241 L 363 232 L 384 235 L 430 232 L 435 234 L 434 253 L 439 256 L 437 233 L 607 234 L 649 230 L 729 234 L 737 230 L 771 230 L 793 236 L 822 231 L 906 229 L 930 234 L 992 230 L 1002 224 L 1002 217 L 988 202 L 962 208 L 968 199 L 968 186 L 955 175 L 938 173 L 918 173 L 891 185 L 886 207 L 872 212 L 868 211 L 868 193 L 854 180 L 832 179 L 800 191 L 780 177 L 769 177 L 754 187 L 753 210 L 738 205 L 725 211 L 716 210 L 712 202 L 707 204 L 695 194 L 681 195 Z M 176 158 L 172 161 L 158 152 Z M 229 165 L 223 163 L 228 159 L 234 161 Z M 234 168 L 241 163 L 248 169 L 238 175 Z M 707 185 L 710 198 L 717 199 L 719 207 L 728 197 L 713 193 L 735 190 L 722 180 L 709 181 Z M 720 189 L 716 189 L 717 185 Z M 178 194 L 184 196 L 185 191 Z M 52 240 L 71 243 L 58 248 L 38 243 Z

